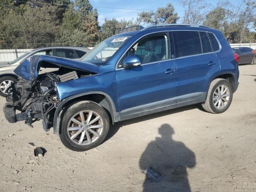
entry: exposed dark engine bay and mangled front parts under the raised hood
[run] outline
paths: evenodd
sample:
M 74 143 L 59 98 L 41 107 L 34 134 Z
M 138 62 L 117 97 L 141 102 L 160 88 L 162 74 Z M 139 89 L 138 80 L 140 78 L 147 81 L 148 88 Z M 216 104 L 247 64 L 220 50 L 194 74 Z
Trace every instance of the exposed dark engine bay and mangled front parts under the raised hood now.
M 12 84 L 4 107 L 5 117 L 10 123 L 25 120 L 27 125 L 33 127 L 33 122 L 42 119 L 44 130 L 50 130 L 54 112 L 60 104 L 56 85 L 93 74 L 62 66 L 56 67 L 59 69 L 40 74 L 35 80 L 19 79 Z M 16 114 L 16 110 L 20 113 Z

